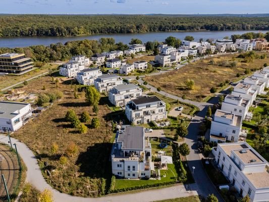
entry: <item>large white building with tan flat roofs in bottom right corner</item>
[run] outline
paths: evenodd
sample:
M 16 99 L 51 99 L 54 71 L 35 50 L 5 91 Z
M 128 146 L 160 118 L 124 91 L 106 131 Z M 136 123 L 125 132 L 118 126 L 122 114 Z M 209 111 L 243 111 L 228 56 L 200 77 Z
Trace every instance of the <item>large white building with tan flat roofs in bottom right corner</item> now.
M 221 143 L 212 153 L 241 196 L 248 195 L 252 202 L 269 200 L 269 164 L 248 143 Z

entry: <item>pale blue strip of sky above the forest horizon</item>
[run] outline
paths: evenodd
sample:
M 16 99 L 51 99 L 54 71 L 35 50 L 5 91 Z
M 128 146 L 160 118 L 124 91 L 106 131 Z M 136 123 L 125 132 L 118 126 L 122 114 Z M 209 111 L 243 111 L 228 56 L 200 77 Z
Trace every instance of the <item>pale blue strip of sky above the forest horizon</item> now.
M 0 13 L 257 14 L 269 13 L 269 2 L 268 0 L 1 0 Z

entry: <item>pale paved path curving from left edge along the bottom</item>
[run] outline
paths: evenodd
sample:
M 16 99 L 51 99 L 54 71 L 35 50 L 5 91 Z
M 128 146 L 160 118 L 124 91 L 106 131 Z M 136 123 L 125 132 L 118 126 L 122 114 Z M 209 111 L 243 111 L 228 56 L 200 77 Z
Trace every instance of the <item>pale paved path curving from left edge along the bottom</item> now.
M 112 194 L 99 198 L 84 198 L 61 193 L 58 190 L 51 188 L 51 186 L 46 183 L 32 151 L 23 142 L 20 142 L 17 139 L 11 138 L 11 141 L 12 143 L 17 144 L 18 153 L 27 166 L 27 181 L 33 184 L 40 191 L 44 190 L 45 188 L 51 190 L 55 202 L 149 202 L 154 200 L 197 195 L 196 184 L 188 185 L 188 190 L 186 190 L 183 184 L 177 184 L 171 187 L 160 189 L 140 191 L 129 194 Z M 8 144 L 8 136 L 0 135 L 0 142 Z

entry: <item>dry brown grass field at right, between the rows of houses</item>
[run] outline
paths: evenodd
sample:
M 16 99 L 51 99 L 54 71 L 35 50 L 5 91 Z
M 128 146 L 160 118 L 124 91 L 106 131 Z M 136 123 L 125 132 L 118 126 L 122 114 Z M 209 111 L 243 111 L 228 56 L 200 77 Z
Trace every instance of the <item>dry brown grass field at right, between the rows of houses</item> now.
M 243 63 L 243 59 L 236 58 L 238 54 L 230 54 L 226 56 L 217 56 L 194 62 L 185 67 L 170 71 L 169 73 L 145 77 L 144 79 L 155 87 L 160 87 L 162 90 L 169 93 L 182 96 L 186 95 L 187 99 L 201 101 L 207 96 L 211 96 L 210 88 L 217 87 L 221 82 L 226 80 L 235 81 L 237 73 L 244 74 L 245 69 L 259 69 L 264 63 L 269 64 L 269 53 L 266 53 L 266 59 L 255 59 L 251 63 Z M 214 65 L 209 65 L 209 61 L 214 61 Z M 229 63 L 236 61 L 236 67 L 218 66 L 222 62 Z M 195 87 L 193 90 L 187 90 L 185 81 L 193 79 Z M 221 88 L 219 88 L 221 90 Z

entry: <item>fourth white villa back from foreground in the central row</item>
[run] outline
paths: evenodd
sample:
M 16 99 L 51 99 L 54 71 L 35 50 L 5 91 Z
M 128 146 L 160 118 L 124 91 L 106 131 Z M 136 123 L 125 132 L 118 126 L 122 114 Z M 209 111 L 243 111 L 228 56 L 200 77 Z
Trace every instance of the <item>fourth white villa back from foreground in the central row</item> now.
M 104 74 L 94 80 L 94 87 L 99 92 L 108 92 L 114 86 L 123 84 L 123 80 L 116 74 Z

